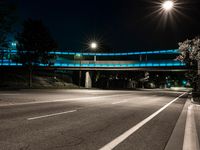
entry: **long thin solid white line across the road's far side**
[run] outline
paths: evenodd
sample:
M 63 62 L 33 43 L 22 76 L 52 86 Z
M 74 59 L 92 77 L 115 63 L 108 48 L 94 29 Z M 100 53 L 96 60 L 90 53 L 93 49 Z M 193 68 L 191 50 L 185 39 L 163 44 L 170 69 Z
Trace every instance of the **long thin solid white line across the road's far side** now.
M 65 102 L 65 101 L 76 101 L 76 100 L 95 100 L 98 98 L 109 98 L 116 96 L 127 96 L 132 94 L 117 94 L 117 95 L 105 95 L 105 96 L 93 96 L 93 97 L 78 97 L 78 98 L 69 98 L 69 99 L 59 99 L 59 100 L 48 100 L 48 101 L 38 101 L 38 102 L 26 102 L 26 103 L 9 103 L 9 104 L 0 104 L 1 106 L 18 106 L 18 105 L 30 105 L 30 104 L 42 104 L 42 103 L 55 103 L 55 102 Z

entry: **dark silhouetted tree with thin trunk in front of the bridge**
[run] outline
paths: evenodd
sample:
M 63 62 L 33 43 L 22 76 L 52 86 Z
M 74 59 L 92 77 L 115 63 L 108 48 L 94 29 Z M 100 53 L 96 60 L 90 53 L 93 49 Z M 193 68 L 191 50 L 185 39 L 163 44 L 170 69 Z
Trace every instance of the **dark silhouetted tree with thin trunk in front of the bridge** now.
M 41 20 L 28 19 L 23 23 L 21 33 L 16 36 L 18 61 L 29 67 L 29 87 L 32 86 L 32 69 L 40 64 L 50 65 L 57 48 L 55 40 Z

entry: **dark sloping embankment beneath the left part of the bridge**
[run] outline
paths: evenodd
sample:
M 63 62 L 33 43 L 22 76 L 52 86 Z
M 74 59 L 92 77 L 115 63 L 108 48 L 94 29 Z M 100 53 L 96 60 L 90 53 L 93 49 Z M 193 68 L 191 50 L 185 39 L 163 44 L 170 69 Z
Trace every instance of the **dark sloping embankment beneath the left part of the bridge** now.
M 29 72 L 27 70 L 1 70 L 1 89 L 29 88 Z M 31 88 L 78 88 L 68 75 L 50 71 L 33 71 Z

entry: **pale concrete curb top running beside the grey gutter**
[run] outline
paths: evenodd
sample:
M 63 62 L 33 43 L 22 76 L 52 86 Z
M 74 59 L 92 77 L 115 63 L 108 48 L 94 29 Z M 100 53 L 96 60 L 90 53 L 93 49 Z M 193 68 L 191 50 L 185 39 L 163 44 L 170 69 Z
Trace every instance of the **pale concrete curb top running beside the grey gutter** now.
M 194 105 L 188 107 L 183 150 L 199 150 L 199 140 L 194 118 Z

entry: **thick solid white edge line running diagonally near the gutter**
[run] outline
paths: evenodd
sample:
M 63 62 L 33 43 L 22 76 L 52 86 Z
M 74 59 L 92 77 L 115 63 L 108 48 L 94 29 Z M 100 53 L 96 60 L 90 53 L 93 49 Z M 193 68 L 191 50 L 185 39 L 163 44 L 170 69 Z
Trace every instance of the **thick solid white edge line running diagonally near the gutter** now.
M 102 148 L 100 148 L 99 150 L 112 150 L 113 148 L 115 148 L 121 142 L 123 142 L 124 140 L 126 140 L 130 135 L 132 135 L 134 132 L 136 132 L 143 125 L 145 125 L 147 122 L 149 122 L 151 119 L 153 119 L 155 116 L 157 116 L 164 109 L 166 109 L 169 105 L 171 105 L 172 103 L 174 103 L 175 101 L 177 101 L 180 97 L 182 97 L 186 93 L 187 92 L 181 94 L 180 96 L 178 96 L 177 98 L 175 98 L 174 100 L 172 100 L 171 102 L 169 102 L 168 104 L 166 104 L 165 106 L 163 106 L 162 108 L 160 108 L 158 111 L 156 111 L 155 113 L 153 113 L 152 115 L 150 115 L 149 117 L 147 117 L 146 119 L 144 119 L 143 121 L 139 122 L 138 124 L 136 124 L 135 126 L 133 126 L 132 128 L 130 128 L 129 130 L 127 130 L 126 132 L 124 132 L 123 134 L 121 134 L 120 136 L 118 136 L 117 138 L 115 138 L 113 141 L 109 142 L 108 144 L 106 144 L 105 146 L 103 146 Z

